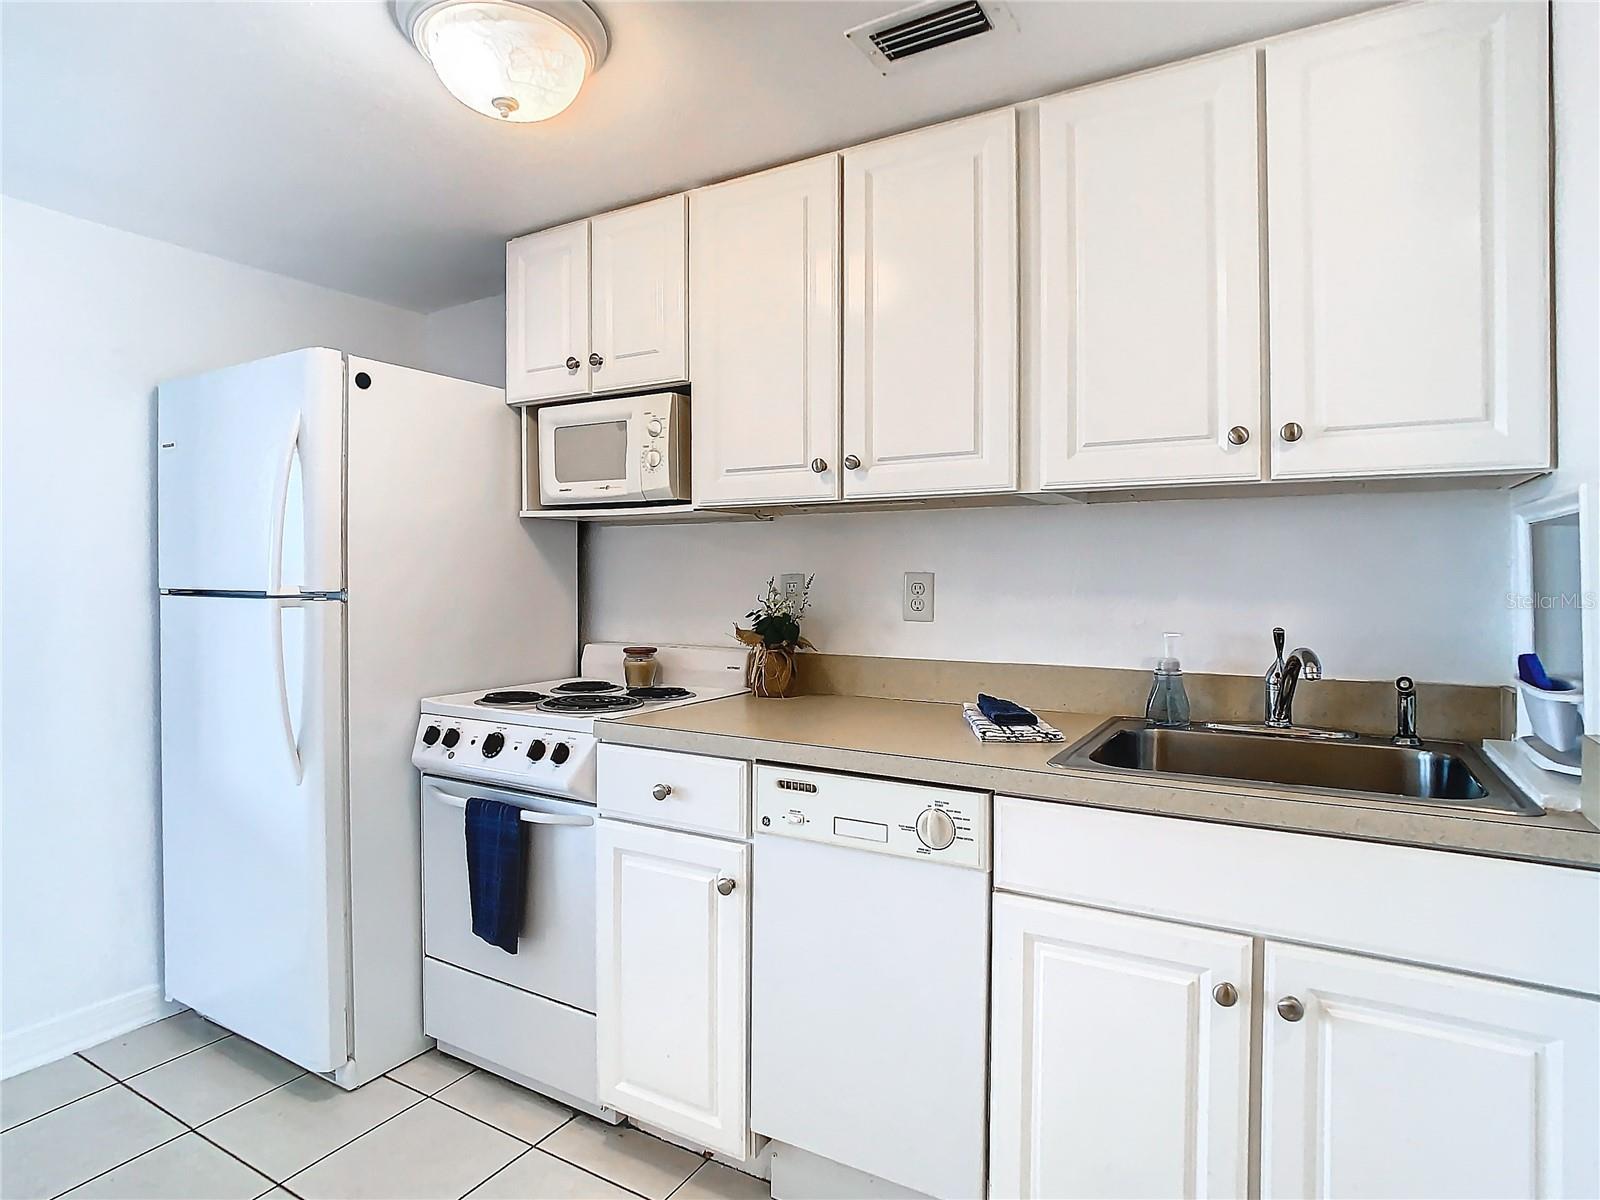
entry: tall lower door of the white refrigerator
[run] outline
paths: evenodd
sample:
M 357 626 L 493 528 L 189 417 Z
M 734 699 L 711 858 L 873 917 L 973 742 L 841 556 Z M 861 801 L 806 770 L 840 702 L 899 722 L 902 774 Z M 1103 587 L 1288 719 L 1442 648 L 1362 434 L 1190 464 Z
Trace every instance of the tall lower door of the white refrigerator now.
M 349 1058 L 344 603 L 162 597 L 166 994 Z

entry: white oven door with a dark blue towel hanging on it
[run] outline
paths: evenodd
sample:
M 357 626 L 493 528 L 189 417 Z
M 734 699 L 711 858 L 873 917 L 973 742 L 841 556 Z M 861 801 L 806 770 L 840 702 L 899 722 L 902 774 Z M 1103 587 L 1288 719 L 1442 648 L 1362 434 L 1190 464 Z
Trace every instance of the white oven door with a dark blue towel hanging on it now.
M 472 934 L 467 800 L 523 810 L 528 902 L 517 954 Z M 574 800 L 422 778 L 422 952 L 595 1011 L 595 810 Z

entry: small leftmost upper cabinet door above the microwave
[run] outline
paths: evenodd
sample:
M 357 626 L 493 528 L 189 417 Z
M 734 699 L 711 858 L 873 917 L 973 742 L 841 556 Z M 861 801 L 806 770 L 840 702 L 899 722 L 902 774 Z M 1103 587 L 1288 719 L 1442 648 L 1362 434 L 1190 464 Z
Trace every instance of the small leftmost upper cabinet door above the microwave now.
M 506 402 L 589 390 L 589 222 L 506 245 Z

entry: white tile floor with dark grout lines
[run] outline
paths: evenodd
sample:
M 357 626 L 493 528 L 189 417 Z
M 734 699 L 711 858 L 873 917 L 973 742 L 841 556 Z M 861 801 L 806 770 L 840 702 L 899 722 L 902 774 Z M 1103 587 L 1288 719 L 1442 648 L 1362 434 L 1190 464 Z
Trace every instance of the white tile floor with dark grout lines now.
M 0 1083 L 0 1198 L 770 1200 L 429 1051 L 357 1091 L 194 1013 Z

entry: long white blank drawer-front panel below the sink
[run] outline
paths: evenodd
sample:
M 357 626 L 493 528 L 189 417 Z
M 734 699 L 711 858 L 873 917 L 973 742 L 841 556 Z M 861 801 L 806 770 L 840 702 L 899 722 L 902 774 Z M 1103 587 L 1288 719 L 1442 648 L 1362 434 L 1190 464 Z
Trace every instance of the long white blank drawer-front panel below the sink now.
M 1600 872 L 995 797 L 995 888 L 1600 994 Z

